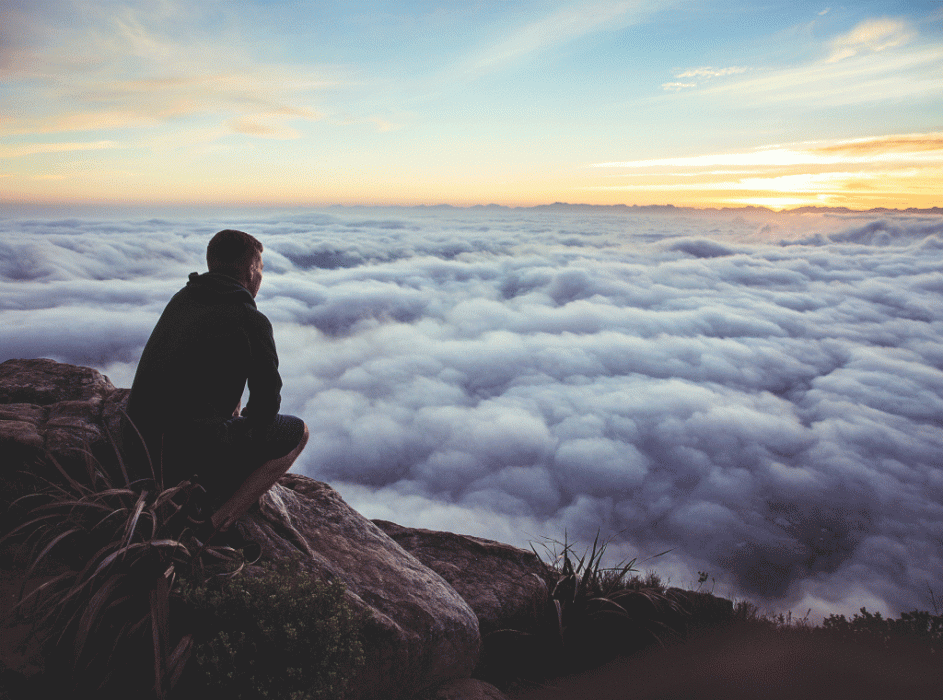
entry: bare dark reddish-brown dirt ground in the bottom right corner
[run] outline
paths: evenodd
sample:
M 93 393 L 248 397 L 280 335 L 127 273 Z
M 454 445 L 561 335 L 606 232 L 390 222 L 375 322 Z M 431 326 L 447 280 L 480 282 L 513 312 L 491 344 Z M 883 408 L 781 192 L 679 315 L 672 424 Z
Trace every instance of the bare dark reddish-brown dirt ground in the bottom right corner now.
M 721 633 L 507 695 L 511 700 L 941 700 L 943 659 L 788 634 Z

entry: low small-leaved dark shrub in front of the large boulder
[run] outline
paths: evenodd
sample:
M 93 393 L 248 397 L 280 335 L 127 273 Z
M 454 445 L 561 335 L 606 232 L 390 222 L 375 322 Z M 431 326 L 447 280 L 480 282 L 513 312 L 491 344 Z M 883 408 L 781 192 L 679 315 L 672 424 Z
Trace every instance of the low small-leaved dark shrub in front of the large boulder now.
M 360 617 L 344 586 L 305 576 L 297 560 L 184 582 L 181 607 L 194 635 L 178 687 L 183 698 L 340 697 L 363 662 Z

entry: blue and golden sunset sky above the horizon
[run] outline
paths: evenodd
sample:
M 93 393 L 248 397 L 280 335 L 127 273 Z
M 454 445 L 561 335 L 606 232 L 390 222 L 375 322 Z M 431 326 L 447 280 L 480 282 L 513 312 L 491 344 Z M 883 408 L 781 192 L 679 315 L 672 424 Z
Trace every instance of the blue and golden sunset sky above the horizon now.
M 936 0 L 0 0 L 0 203 L 932 207 Z

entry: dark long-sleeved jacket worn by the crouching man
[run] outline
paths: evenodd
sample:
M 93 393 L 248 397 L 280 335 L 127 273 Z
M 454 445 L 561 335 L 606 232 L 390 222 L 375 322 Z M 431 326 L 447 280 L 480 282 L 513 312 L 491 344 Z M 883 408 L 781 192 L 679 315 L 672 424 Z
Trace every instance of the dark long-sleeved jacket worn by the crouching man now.
M 194 272 L 144 347 L 128 415 L 149 447 L 167 433 L 211 438 L 232 417 L 247 382 L 243 415 L 267 426 L 282 388 L 272 324 L 235 279 Z

